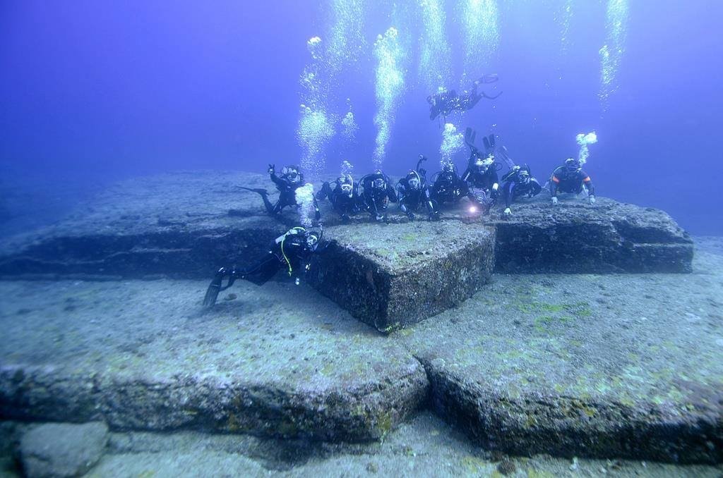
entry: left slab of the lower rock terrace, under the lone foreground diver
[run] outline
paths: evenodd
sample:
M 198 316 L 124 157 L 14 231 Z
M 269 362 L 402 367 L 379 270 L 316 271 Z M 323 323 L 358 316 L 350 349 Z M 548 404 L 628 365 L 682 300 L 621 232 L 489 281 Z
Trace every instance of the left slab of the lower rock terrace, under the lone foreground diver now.
M 0 416 L 366 440 L 426 396 L 401 344 L 307 287 L 242 283 L 204 311 L 207 285 L 0 282 Z

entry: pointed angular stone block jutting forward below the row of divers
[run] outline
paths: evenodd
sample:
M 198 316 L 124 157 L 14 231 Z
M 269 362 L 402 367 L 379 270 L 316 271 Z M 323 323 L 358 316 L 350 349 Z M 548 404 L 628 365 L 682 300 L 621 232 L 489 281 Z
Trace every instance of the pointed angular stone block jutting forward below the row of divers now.
M 391 331 L 455 307 L 489 282 L 495 231 L 413 222 L 329 227 L 312 284 L 360 321 Z

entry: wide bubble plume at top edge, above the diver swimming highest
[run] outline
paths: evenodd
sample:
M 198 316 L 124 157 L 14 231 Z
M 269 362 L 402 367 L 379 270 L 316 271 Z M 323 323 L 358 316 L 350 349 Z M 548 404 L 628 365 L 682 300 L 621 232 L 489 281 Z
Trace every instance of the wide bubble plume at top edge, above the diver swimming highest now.
M 495 0 L 462 0 L 459 8 L 465 42 L 463 82 L 466 76 L 484 73 L 492 53 L 497 51 L 500 32 Z

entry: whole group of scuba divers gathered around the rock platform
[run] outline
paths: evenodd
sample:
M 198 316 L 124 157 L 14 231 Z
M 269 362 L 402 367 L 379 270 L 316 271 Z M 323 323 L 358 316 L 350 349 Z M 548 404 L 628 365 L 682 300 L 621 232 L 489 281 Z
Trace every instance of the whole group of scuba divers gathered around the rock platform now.
M 496 76 L 486 76 L 474 82 L 471 92 L 456 95 L 455 92 L 442 92 L 427 98 L 430 105 L 430 118 L 440 114 L 446 116 L 453 110 L 467 110 L 474 106 L 481 97 L 492 98 L 477 92 L 477 86 L 496 81 Z M 466 129 L 465 142 L 470 149 L 466 170 L 462 175 L 453 162 L 447 162 L 442 170 L 427 178 L 427 170 L 422 168 L 426 157 L 419 156 L 416 168 L 411 169 L 399 181 L 394 183 L 382 170 L 364 175 L 354 181 L 351 174 L 345 173 L 335 181 L 325 182 L 321 190 L 312 198 L 315 219 L 321 218 L 319 201 L 328 200 L 333 211 L 348 222 L 352 215 L 369 213 L 375 222 L 388 222 L 387 209 L 390 203 L 397 203 L 399 209 L 409 220 L 416 220 L 417 215 L 426 214 L 430 221 L 440 219 L 440 211 L 455 207 L 463 199 L 470 201 L 472 211 L 479 210 L 487 214 L 497 204 L 504 201 L 504 217 L 512 216 L 511 205 L 516 199 L 534 197 L 542 191 L 542 186 L 533 177 L 529 165 L 516 165 L 508 155 L 504 146 L 497 148 L 495 135 L 483 138 L 484 150 L 475 144 L 475 132 Z M 501 159 L 509 168 L 507 173 L 498 175 L 504 168 Z M 555 168 L 549 177 L 549 192 L 552 204 L 557 204 L 560 194 L 587 194 L 590 204 L 595 203 L 595 190 L 590 176 L 585 173 L 582 163 L 568 158 Z M 274 165 L 269 165 L 268 173 L 271 181 L 278 189 L 278 199 L 272 203 L 269 193 L 262 188 L 244 188 L 254 191 L 262 197 L 265 208 L 273 217 L 280 217 L 285 207 L 300 207 L 297 201 L 297 189 L 305 185 L 304 175 L 298 166 L 286 166 L 281 174 L 276 172 Z M 500 184 L 502 186 L 500 186 Z M 312 257 L 328 247 L 329 243 L 322 240 L 323 232 L 319 228 L 292 227 L 276 238 L 268 253 L 252 263 L 248 268 L 224 266 L 215 274 L 208 287 L 203 305 L 210 307 L 215 304 L 218 293 L 228 289 L 236 279 L 244 279 L 257 285 L 268 282 L 278 271 L 286 269 L 289 276 L 295 276 L 296 284 L 299 277 L 309 270 Z M 223 281 L 226 280 L 226 284 Z

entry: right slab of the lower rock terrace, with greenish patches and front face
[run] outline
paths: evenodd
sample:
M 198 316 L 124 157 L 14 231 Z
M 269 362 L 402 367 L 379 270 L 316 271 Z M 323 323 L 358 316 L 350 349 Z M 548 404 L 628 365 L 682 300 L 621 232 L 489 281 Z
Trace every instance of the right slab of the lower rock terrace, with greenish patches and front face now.
M 707 243 L 690 275 L 497 274 L 398 338 L 435 409 L 484 446 L 721 461 L 723 255 Z

